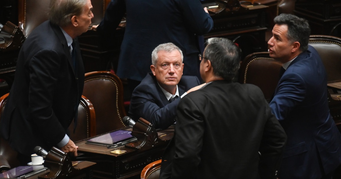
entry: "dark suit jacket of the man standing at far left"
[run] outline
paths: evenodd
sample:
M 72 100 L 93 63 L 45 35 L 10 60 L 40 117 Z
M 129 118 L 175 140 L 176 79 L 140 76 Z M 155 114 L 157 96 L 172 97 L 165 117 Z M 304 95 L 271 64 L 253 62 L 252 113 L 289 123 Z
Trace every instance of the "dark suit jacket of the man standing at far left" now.
M 56 146 L 77 112 L 84 66 L 77 39 L 74 69 L 70 48 L 58 26 L 43 22 L 20 49 L 15 78 L 1 116 L 1 135 L 26 155 L 35 146 Z

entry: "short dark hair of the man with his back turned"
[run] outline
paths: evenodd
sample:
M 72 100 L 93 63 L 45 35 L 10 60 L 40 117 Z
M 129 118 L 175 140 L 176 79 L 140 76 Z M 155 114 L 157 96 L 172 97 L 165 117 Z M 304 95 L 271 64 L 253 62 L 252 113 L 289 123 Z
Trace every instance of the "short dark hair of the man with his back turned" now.
M 213 68 L 213 74 L 225 80 L 233 80 L 240 66 L 240 49 L 227 38 L 209 38 L 205 58 Z

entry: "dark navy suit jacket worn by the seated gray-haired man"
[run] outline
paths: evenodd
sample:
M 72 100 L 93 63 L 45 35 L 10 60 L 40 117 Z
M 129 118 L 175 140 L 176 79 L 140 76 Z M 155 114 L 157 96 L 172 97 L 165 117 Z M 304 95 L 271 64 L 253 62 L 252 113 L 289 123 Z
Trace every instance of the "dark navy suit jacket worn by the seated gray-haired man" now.
M 178 84 L 179 95 L 199 84 L 198 78 L 194 76 L 182 76 Z M 153 124 L 155 129 L 166 129 L 175 122 L 179 101 L 180 98 L 169 103 L 155 76 L 149 73 L 133 91 L 129 116 L 135 121 L 142 117 Z

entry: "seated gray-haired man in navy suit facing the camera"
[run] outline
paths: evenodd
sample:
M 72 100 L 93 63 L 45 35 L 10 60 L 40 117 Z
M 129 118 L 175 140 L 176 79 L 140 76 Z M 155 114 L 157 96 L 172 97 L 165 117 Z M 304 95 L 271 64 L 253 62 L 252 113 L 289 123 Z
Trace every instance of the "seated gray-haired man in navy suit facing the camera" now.
M 129 116 L 134 120 L 142 117 L 156 129 L 166 129 L 175 123 L 180 98 L 200 83 L 195 76 L 182 76 L 183 54 L 173 43 L 159 45 L 151 56 L 152 73 L 135 88 Z

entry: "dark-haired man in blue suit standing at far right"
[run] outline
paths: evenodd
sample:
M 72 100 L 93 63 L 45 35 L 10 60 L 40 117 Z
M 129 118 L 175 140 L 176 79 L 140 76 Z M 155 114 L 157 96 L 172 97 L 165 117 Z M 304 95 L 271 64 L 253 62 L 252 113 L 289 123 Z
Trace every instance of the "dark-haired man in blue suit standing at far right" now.
M 270 102 L 288 136 L 279 178 L 331 178 L 341 161 L 341 135 L 328 108 L 324 65 L 308 45 L 307 20 L 281 14 L 274 21 L 270 57 L 286 69 Z

